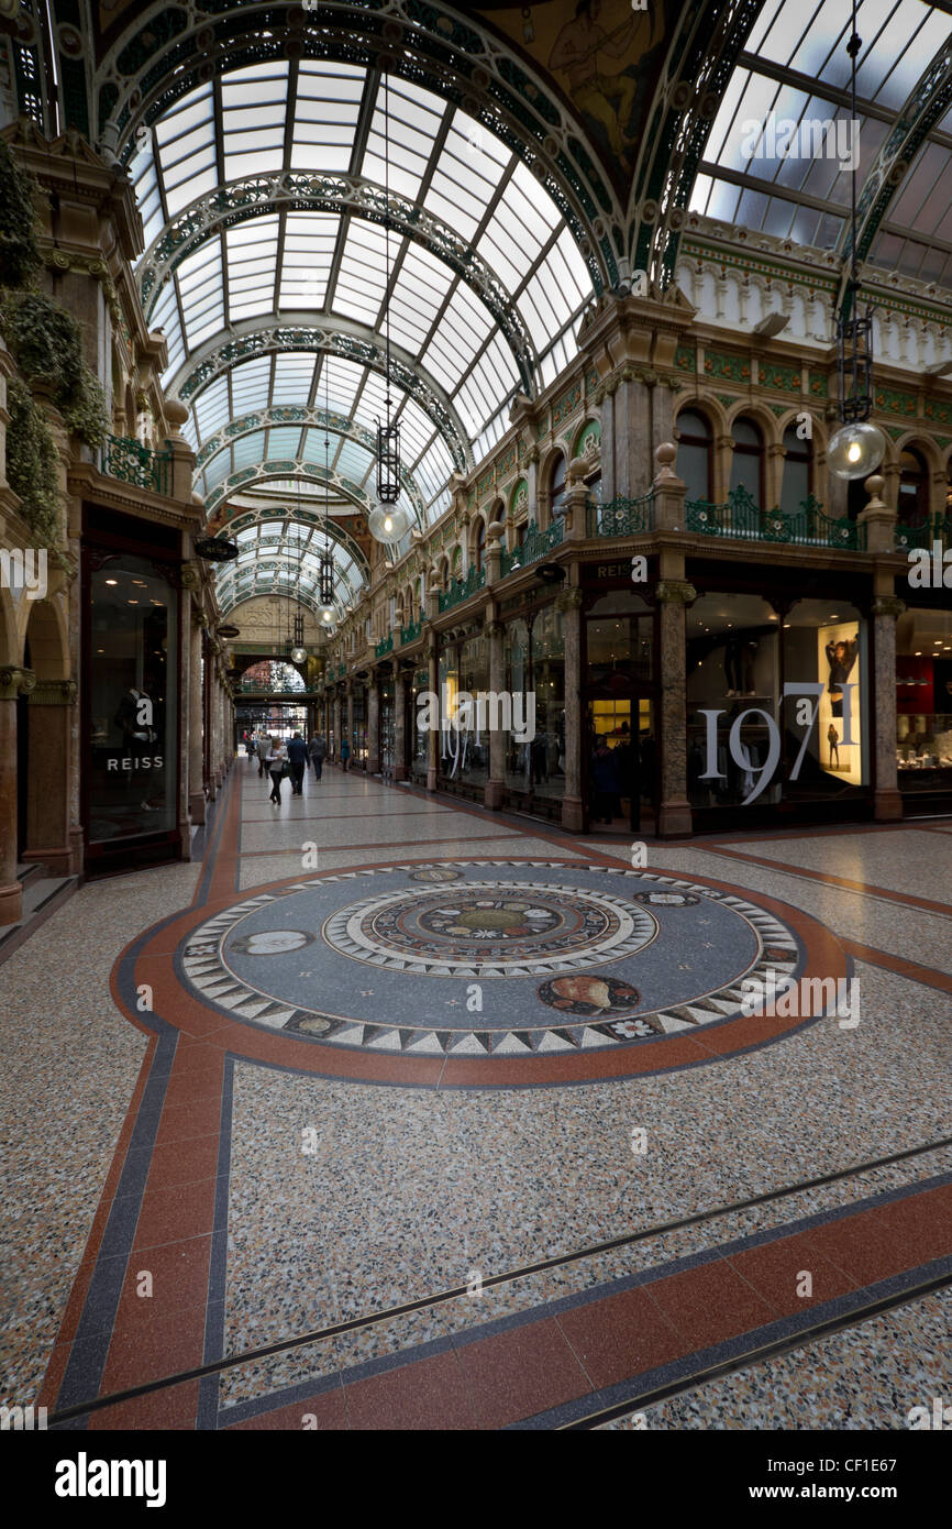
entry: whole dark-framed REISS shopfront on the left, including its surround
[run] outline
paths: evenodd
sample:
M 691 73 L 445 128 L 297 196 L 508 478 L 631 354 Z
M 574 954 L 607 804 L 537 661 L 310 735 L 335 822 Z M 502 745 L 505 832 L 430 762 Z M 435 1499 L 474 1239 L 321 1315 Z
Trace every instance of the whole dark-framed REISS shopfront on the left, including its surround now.
M 180 537 L 95 508 L 83 540 L 86 870 L 177 859 Z

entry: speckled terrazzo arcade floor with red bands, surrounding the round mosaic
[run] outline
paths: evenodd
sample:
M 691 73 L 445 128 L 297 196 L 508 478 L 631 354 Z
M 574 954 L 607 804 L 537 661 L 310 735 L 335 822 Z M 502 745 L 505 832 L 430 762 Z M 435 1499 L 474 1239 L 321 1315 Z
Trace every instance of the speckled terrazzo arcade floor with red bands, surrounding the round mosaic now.
M 602 1427 L 895 1428 L 906 1427 L 920 1391 L 952 1390 L 947 1290 L 862 1320 L 882 1281 L 902 1295 L 923 1269 L 952 1274 L 952 1216 L 937 1243 L 940 1202 L 924 1211 L 926 1197 L 952 1182 L 947 833 L 905 826 L 651 844 L 640 881 L 627 844 L 568 838 L 335 769 L 321 783 L 309 777 L 303 798 L 284 792 L 272 807 L 257 771 L 238 760 L 219 810 L 203 865 L 84 887 L 0 966 L 6 1404 L 72 1410 L 61 1427 L 300 1428 L 303 1398 L 313 1391 L 327 1411 L 321 1427 L 546 1428 L 564 1425 L 559 1408 L 568 1405 L 597 1427 L 601 1405 L 640 1394 L 639 1376 L 657 1370 L 649 1356 L 619 1373 L 593 1358 L 591 1324 L 636 1297 L 654 1303 L 671 1342 L 665 1362 L 688 1388 L 648 1407 L 640 1422 Z M 575 878 L 568 867 L 578 867 Z M 426 896 L 436 910 L 423 931 L 373 910 L 355 922 L 371 891 L 403 896 L 393 888 L 411 878 L 419 907 Z M 481 891 L 491 878 L 495 890 Z M 367 940 L 367 951 L 350 956 L 355 1006 L 373 1011 L 374 997 L 393 994 L 379 1015 L 384 1029 L 358 1038 L 344 1031 L 336 1046 L 319 1026 L 301 1026 L 307 983 L 290 971 L 300 960 L 301 977 L 315 971 L 319 982 L 330 956 L 325 913 L 309 914 L 313 930 L 300 936 L 318 942 L 310 965 L 303 951 L 275 965 L 274 953 L 255 946 L 301 924 L 290 910 L 309 905 L 287 888 L 316 882 L 350 910 L 335 939 Z M 610 962 L 587 986 L 575 969 L 553 976 L 558 968 L 542 965 L 552 953 L 532 942 L 544 943 L 558 917 L 559 937 L 576 937 L 572 898 L 562 911 L 529 908 L 526 924 L 532 898 L 520 901 L 520 887 L 556 884 L 640 898 L 642 911 L 654 899 L 651 939 L 660 943 L 651 960 L 666 960 L 680 982 L 704 931 L 691 925 L 695 933 L 678 937 L 677 917 L 703 922 L 704 899 L 720 899 L 711 902 L 717 917 L 732 904 L 752 905 L 764 919 L 764 951 L 776 943 L 772 930 L 788 930 L 798 972 L 836 966 L 856 977 L 860 1021 L 842 1026 L 827 1012 L 772 1026 L 741 1018 L 727 1000 L 704 1029 L 671 998 L 675 1034 L 640 1034 L 622 1020 L 611 1035 L 599 1015 L 608 1005 L 628 1012 L 625 1001 L 636 1014 L 631 974 L 646 957 L 627 957 L 631 968 Z M 678 899 L 700 905 L 678 914 Z M 286 1009 L 280 985 L 270 1008 L 246 1014 L 228 980 L 189 982 L 196 960 L 211 972 L 209 939 L 228 951 L 231 910 L 252 917 L 240 925 L 252 931 L 243 936 L 241 980 L 275 988 L 274 974 L 284 971 L 287 992 L 295 989 Z M 596 937 L 597 917 L 608 914 L 585 917 L 587 937 Z M 643 919 L 646 928 L 652 920 Z M 558 1000 L 568 1012 L 549 1032 L 552 1053 L 527 1040 L 506 1060 L 484 1057 L 489 1018 L 481 1032 L 478 1009 L 468 1020 L 465 977 L 446 986 L 446 977 L 417 976 L 420 998 L 406 998 L 403 946 L 397 959 L 374 943 L 397 936 L 432 939 L 429 962 L 445 959 L 439 940 L 455 940 L 452 959 L 466 957 L 471 936 L 495 942 L 484 950 L 497 954 L 506 940 L 523 940 L 526 994 L 568 983 Z M 154 1014 L 138 1014 L 147 980 Z M 425 1047 L 413 1060 L 405 1038 L 391 1044 L 387 1023 L 402 1024 L 403 1037 L 422 1034 L 411 1024 L 426 1023 L 426 994 L 440 980 L 442 992 L 460 991 L 452 1023 L 466 1031 L 465 1044 L 458 1060 L 455 1037 L 445 1055 Z M 529 998 L 513 989 L 507 1001 L 515 1035 L 529 1023 Z M 869 1167 L 880 1157 L 897 1161 Z M 929 1237 L 912 1228 L 920 1202 Z M 883 1238 L 868 1266 L 837 1252 L 837 1237 L 856 1240 L 859 1226 L 889 1216 L 912 1228 L 908 1249 L 892 1237 L 886 1257 Z M 724 1329 L 697 1341 L 678 1316 L 688 1297 L 668 1289 L 703 1278 L 711 1260 L 726 1269 L 738 1249 L 776 1251 L 785 1238 L 821 1234 L 828 1240 L 818 1271 L 830 1280 L 819 1281 L 818 1312 L 853 1303 L 851 1326 L 813 1339 L 807 1313 L 792 1315 L 767 1286 L 755 1281 L 755 1297 L 746 1284 L 749 1312 L 743 1300 L 721 1304 L 749 1349 L 750 1335 L 773 1330 L 770 1318 L 793 1323 L 802 1342 L 691 1385 L 715 1339 L 740 1339 Z M 144 1264 L 156 1266 L 148 1310 L 128 1290 L 130 1271 Z M 403 1306 L 416 1309 L 394 1312 Z M 246 1358 L 270 1344 L 284 1347 Z M 507 1379 L 503 1407 L 486 1390 L 507 1362 L 506 1346 L 523 1381 L 513 1390 Z M 202 1362 L 220 1368 L 200 1385 L 104 1402 Z M 608 1381 L 622 1391 L 608 1396 Z M 443 1384 L 465 1398 L 455 1422 L 428 1411 L 413 1390 Z

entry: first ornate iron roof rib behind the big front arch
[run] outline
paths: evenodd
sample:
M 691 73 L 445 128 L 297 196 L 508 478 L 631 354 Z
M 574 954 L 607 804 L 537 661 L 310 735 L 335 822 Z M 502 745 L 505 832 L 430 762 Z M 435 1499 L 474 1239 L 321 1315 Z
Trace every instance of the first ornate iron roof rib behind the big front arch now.
M 390 193 L 361 176 L 301 174 L 249 176 L 199 197 L 167 223 L 139 265 L 139 291 L 148 320 L 162 286 L 173 271 L 205 240 L 249 217 L 290 208 L 293 211 L 351 213 L 374 223 L 390 223 L 443 260 L 486 304 L 513 353 L 521 384 L 535 394 L 535 346 L 515 303 L 491 266 L 465 239 L 414 202 Z

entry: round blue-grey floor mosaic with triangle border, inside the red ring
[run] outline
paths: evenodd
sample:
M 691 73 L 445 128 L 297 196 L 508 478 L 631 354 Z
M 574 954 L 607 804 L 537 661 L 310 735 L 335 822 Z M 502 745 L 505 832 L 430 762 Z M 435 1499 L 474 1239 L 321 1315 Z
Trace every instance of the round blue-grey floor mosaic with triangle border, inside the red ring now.
M 246 898 L 196 927 L 179 971 L 203 1003 L 319 1046 L 512 1060 L 697 1035 L 743 1017 L 746 977 L 804 968 L 795 930 L 729 888 L 584 862 L 446 870 Z

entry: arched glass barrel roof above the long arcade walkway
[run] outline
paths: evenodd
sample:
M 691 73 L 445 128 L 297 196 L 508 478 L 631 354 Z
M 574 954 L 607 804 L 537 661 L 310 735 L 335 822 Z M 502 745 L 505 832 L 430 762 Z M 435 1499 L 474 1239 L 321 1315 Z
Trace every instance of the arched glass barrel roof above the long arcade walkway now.
M 512 394 L 544 387 L 573 353 L 575 327 L 593 295 L 590 277 L 542 187 L 458 107 L 393 76 L 390 138 L 400 214 L 390 239 L 388 292 L 384 228 L 362 216 L 373 206 L 379 216 L 384 180 L 376 70 L 304 60 L 260 64 L 170 107 L 131 162 L 148 246 L 141 269 L 157 272 L 150 321 L 162 326 L 170 349 L 164 381 L 182 385 L 197 356 L 257 327 L 316 324 L 348 333 L 351 326 L 379 341 L 388 312 L 394 347 L 448 404 L 480 460 L 507 427 Z M 290 205 L 306 194 L 300 180 L 287 182 L 295 174 L 319 174 L 313 190 L 324 206 Z M 228 228 L 202 203 L 223 185 L 228 208 L 240 214 Z M 241 219 L 252 206 L 255 216 Z M 189 228 L 185 258 L 170 269 L 156 242 L 186 209 L 199 234 Z M 335 355 L 329 364 L 332 410 L 374 430 L 382 376 L 358 359 Z M 310 353 L 234 365 L 189 394 L 189 440 L 200 450 L 255 410 L 321 407 L 321 356 Z M 394 401 L 403 463 L 432 520 L 448 502 L 452 443 L 417 399 L 394 390 Z M 258 443 L 270 451 L 270 442 Z M 251 450 L 234 446 L 243 459 Z M 353 442 L 338 442 L 338 451 L 362 472 Z

